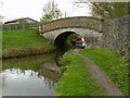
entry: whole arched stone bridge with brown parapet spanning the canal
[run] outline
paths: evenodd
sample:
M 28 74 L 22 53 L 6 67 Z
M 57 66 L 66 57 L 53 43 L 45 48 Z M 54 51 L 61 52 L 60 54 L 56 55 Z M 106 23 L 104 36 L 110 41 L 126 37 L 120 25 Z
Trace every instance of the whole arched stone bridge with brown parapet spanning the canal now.
M 102 20 L 87 16 L 67 17 L 49 22 L 40 27 L 40 35 L 64 45 L 70 34 L 79 34 L 88 46 L 96 45 L 101 37 Z M 61 42 L 61 44 L 58 44 Z

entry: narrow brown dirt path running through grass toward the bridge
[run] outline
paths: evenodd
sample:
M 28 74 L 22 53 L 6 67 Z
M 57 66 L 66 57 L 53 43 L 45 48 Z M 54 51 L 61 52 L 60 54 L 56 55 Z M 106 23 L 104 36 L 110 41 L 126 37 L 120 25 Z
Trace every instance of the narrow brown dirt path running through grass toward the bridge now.
M 87 68 L 90 69 L 90 73 L 93 78 L 105 89 L 106 96 L 122 96 L 121 91 L 116 87 L 116 85 L 105 75 L 105 73 L 100 70 L 100 68 L 88 57 L 78 53 L 79 50 L 73 50 L 70 53 L 81 57 L 87 63 Z

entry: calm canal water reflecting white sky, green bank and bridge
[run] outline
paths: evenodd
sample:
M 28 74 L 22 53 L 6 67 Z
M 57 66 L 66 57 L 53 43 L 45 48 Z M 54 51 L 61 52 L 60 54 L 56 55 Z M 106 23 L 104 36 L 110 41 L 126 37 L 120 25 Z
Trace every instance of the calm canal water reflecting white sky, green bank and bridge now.
M 2 96 L 54 96 L 61 71 L 55 54 L 34 56 L 2 61 Z

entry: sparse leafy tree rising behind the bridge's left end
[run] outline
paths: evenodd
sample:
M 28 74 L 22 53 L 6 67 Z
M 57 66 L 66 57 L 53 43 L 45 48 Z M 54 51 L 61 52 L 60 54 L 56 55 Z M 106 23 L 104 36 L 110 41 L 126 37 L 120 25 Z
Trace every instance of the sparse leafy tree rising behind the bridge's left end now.
M 43 7 L 43 16 L 40 19 L 41 22 L 47 23 L 49 21 L 57 20 L 62 16 L 61 10 L 57 4 L 53 1 L 48 1 Z

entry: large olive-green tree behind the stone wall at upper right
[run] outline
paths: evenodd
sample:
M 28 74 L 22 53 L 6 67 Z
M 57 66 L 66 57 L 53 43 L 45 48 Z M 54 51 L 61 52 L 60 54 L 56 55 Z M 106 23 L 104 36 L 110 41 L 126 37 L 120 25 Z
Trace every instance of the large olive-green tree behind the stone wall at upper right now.
M 78 0 L 78 4 L 87 3 L 91 7 L 91 14 L 94 17 L 115 19 L 128 14 L 128 2 L 89 2 Z

